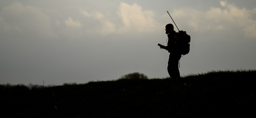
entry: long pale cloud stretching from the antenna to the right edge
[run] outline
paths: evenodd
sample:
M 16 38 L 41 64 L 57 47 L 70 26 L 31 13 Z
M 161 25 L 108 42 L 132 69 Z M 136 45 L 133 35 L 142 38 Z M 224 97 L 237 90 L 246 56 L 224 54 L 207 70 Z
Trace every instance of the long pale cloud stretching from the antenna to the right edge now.
M 208 11 L 182 8 L 174 10 L 172 15 L 177 18 L 177 21 L 183 21 L 184 27 L 189 26 L 195 31 L 242 29 L 244 36 L 256 38 L 256 20 L 252 19 L 256 8 L 253 10 L 240 9 L 226 1 L 220 1 L 220 5 L 222 8 L 212 7 Z

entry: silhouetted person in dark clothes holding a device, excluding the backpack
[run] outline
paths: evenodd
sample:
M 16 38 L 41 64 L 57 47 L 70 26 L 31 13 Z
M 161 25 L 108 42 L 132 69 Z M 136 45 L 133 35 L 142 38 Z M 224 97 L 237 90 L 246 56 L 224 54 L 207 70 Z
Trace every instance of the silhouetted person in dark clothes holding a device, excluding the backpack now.
M 167 46 L 164 46 L 162 48 L 168 50 L 168 52 L 170 53 L 167 70 L 170 77 L 180 77 L 180 71 L 178 67 L 179 60 L 181 57 L 181 54 L 179 51 L 179 47 L 180 47 L 179 36 L 173 30 L 172 24 L 167 24 L 165 26 L 165 31 L 166 31 L 165 33 L 168 36 L 168 43 L 167 43 Z

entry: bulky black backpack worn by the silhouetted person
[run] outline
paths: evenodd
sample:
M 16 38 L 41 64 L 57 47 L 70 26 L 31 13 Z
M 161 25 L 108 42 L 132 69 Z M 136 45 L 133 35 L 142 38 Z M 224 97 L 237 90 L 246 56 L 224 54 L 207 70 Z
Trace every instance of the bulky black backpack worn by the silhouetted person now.
M 180 53 L 181 55 L 186 55 L 189 52 L 190 48 L 190 35 L 186 33 L 186 31 L 179 31 L 177 33 L 180 37 Z

